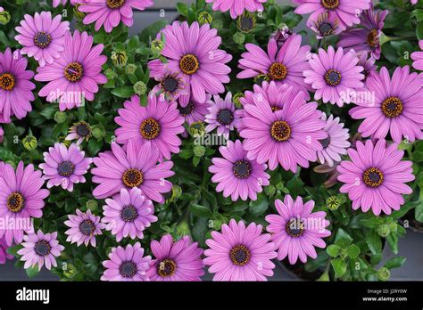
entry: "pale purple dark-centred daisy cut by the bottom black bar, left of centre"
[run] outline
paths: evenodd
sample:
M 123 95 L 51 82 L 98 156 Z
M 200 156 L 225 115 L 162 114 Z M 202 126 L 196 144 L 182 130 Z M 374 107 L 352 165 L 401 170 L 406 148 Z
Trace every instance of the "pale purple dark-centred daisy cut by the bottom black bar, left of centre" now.
M 137 242 L 134 246 L 127 245 L 113 248 L 109 254 L 110 260 L 103 262 L 106 270 L 102 281 L 149 281 L 147 271 L 152 257 L 144 257 L 145 251 Z

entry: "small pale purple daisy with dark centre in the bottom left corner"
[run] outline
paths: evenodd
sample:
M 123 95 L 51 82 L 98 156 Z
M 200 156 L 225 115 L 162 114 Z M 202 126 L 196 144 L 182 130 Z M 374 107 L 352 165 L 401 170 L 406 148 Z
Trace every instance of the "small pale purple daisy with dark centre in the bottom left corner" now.
M 23 236 L 22 249 L 18 251 L 21 261 L 25 262 L 25 269 L 38 265 L 41 270 L 43 265 L 50 270 L 52 266 L 57 267 L 55 257 L 60 257 L 64 249 L 57 241 L 57 232 L 44 234 L 40 230 L 37 233 L 29 233 Z

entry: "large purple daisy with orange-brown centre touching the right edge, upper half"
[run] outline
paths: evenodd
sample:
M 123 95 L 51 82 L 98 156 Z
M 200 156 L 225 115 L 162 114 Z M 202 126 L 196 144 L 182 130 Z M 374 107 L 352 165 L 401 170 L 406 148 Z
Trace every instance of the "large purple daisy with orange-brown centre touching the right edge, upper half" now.
M 365 118 L 359 127 L 364 137 L 383 139 L 391 134 L 395 143 L 423 139 L 423 75 L 398 67 L 391 79 L 386 67 L 372 72 L 366 81 L 369 95 L 350 110 L 354 119 Z

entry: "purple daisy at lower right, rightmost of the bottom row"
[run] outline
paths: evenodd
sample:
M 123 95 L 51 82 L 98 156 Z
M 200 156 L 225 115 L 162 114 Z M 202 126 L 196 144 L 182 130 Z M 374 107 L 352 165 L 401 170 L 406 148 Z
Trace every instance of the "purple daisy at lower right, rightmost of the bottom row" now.
M 289 264 L 294 265 L 298 258 L 305 263 L 307 257 L 316 258 L 314 247 L 326 248 L 322 238 L 330 236 L 326 229 L 330 224 L 323 211 L 311 213 L 314 201 L 303 203 L 298 196 L 294 201 L 290 195 L 284 202 L 275 200 L 278 215 L 266 216 L 269 223 L 267 231 L 278 248 L 278 260 L 288 257 Z

